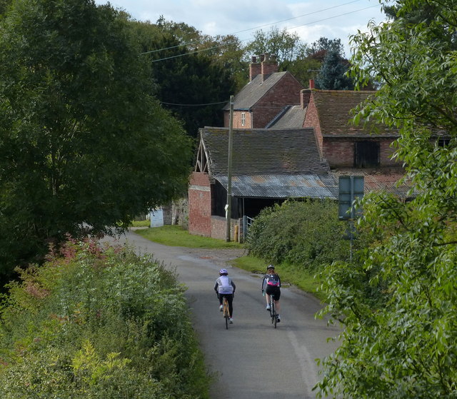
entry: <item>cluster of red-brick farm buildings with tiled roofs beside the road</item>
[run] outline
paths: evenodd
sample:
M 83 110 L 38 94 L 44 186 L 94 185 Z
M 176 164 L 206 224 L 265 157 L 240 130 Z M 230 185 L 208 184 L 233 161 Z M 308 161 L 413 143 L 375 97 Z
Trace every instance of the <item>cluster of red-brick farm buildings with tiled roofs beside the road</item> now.
M 351 110 L 374 91 L 308 89 L 278 72 L 274 57 L 253 57 L 250 81 L 233 98 L 231 229 L 243 216 L 287 198 L 338 198 L 338 176 L 364 176 L 365 191 L 397 187 L 403 176 L 391 143 L 398 132 L 351 123 Z M 224 127 L 199 129 L 189 184 L 189 232 L 225 238 L 230 104 Z

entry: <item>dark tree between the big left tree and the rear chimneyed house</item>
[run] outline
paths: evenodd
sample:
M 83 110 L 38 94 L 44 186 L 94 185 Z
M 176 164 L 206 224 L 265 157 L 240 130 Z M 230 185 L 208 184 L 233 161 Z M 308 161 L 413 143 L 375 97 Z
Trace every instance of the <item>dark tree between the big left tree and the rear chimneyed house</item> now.
M 151 64 L 157 97 L 183 121 L 189 136 L 195 137 L 202 126 L 222 126 L 221 108 L 235 91 L 233 71 L 217 61 L 219 56 L 206 51 L 204 44 L 189 49 L 174 30 L 164 31 L 161 24 L 133 25 L 142 57 Z

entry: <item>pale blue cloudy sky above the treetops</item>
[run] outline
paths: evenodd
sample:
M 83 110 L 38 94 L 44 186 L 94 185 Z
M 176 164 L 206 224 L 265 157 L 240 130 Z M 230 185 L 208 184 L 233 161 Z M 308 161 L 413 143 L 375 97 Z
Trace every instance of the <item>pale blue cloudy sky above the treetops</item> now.
M 96 0 L 105 4 L 106 0 Z M 155 23 L 184 22 L 210 36 L 235 34 L 243 44 L 273 26 L 312 44 L 320 37 L 341 39 L 350 56 L 348 36 L 366 31 L 368 21 L 383 21 L 378 0 L 111 0 L 132 18 Z

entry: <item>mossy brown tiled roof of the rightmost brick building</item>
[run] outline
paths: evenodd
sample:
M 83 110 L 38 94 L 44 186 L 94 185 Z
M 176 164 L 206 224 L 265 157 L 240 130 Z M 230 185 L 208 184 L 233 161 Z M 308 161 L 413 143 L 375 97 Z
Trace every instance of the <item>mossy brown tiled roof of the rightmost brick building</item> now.
M 376 91 L 314 90 L 312 95 L 318 111 L 322 135 L 351 134 L 365 136 L 375 133 L 376 127 L 376 133 L 395 136 L 396 130 L 379 123 L 375 124 L 371 121 L 364 123 L 361 120 L 358 126 L 355 126 L 350 122 L 353 117 L 351 110 L 375 93 Z

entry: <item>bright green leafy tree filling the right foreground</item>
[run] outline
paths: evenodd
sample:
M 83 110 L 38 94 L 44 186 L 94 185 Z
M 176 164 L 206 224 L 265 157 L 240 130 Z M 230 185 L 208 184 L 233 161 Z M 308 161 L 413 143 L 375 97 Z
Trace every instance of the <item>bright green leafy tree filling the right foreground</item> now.
M 346 328 L 318 386 L 338 398 L 457 395 L 456 4 L 396 4 L 395 19 L 353 37 L 353 76 L 381 84 L 356 119 L 399 129 L 414 195 L 367 196 L 361 228 L 378 245 L 328 271 L 327 310 Z

